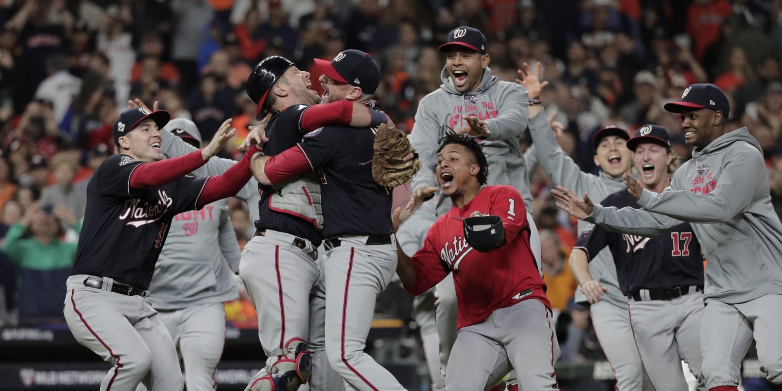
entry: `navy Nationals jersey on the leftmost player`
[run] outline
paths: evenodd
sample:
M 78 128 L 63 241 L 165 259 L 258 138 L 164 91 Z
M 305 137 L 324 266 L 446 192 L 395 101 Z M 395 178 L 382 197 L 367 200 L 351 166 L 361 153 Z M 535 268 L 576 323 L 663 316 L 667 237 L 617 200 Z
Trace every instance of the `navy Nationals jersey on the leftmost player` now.
M 117 154 L 95 170 L 87 185 L 89 207 L 71 275 L 91 274 L 149 288 L 171 220 L 197 209 L 206 178 L 184 177 L 131 190 L 131 173 L 141 164 Z

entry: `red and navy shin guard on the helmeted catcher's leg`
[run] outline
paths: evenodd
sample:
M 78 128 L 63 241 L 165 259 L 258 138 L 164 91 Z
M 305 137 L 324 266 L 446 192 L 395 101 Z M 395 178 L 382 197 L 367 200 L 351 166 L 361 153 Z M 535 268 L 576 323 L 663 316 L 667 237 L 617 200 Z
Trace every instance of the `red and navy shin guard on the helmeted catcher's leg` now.
M 259 378 L 249 391 L 296 391 L 312 377 L 312 357 L 303 339 L 293 338 L 285 347 L 269 353 L 269 357 L 282 356 L 267 366 L 268 374 Z

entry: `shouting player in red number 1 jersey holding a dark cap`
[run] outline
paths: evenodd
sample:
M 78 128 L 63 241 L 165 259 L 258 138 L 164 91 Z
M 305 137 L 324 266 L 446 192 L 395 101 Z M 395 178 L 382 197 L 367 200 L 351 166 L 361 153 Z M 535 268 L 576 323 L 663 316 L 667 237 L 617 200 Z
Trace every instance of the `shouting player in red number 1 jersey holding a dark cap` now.
M 474 138 L 443 139 L 436 178 L 453 206 L 432 225 L 414 256 L 397 247 L 396 273 L 414 295 L 454 274 L 459 331 L 446 389 L 481 391 L 508 373 L 510 365 L 520 389 L 558 389 L 554 361 L 559 346 L 529 246 L 524 202 L 509 185 L 486 186 L 489 170 Z M 394 211 L 395 226 L 400 212 Z M 477 224 L 485 228 L 468 227 L 467 217 L 482 219 Z M 479 229 L 485 230 L 483 235 Z

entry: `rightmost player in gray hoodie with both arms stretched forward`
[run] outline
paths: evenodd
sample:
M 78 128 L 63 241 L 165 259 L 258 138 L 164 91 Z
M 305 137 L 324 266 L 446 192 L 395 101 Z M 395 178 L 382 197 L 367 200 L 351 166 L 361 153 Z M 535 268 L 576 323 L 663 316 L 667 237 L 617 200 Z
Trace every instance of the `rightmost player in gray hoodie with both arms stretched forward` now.
M 714 84 L 692 84 L 681 102 L 665 104 L 680 113 L 692 159 L 673 174 L 668 188 L 652 192 L 625 178 L 644 210 L 618 209 L 554 190 L 559 206 L 613 231 L 658 235 L 691 223 L 708 264 L 701 352 L 706 387 L 736 391 L 741 360 L 752 338 L 769 382 L 782 389 L 782 224 L 769 197 L 769 178 L 759 143 L 746 127 L 726 132 L 730 103 Z

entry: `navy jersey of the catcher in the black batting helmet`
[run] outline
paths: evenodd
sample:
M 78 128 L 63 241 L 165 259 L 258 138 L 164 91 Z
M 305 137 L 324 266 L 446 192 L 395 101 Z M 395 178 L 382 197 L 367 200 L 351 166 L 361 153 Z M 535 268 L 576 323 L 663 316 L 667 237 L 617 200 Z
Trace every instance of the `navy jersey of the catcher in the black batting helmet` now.
M 295 105 L 272 114 L 266 127 L 269 142 L 264 144 L 264 155 L 277 155 L 301 141 L 303 133 L 301 117 L 307 107 Z M 288 213 L 271 210 L 271 192 L 273 191 L 271 186 L 258 185 L 258 188 L 260 189 L 260 201 L 258 201 L 260 215 L 255 221 L 255 228 L 287 232 L 300 238 L 309 239 L 315 246 L 321 244 L 321 234 L 313 223 Z

